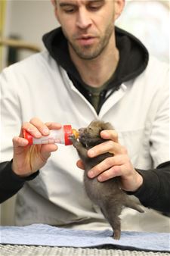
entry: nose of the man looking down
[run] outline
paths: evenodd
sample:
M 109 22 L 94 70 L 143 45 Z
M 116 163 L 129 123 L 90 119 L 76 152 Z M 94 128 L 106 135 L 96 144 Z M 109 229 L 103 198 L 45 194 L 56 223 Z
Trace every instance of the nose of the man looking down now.
M 87 10 L 79 10 L 79 13 L 77 14 L 76 25 L 82 30 L 91 26 L 91 17 Z

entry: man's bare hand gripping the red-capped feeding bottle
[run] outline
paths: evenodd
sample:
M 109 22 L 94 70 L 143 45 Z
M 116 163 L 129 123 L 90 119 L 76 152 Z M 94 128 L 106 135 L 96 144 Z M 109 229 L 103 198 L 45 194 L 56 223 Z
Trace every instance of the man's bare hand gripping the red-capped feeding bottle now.
M 50 130 L 61 128 L 59 123 L 42 123 L 38 118 L 32 118 L 30 122 L 23 123 L 20 136 L 13 138 L 14 156 L 12 170 L 19 176 L 29 176 L 36 170 L 42 168 L 47 162 L 52 151 L 57 150 L 55 144 L 28 145 L 28 141 L 23 138 L 23 129 L 33 137 L 40 138 L 48 136 Z

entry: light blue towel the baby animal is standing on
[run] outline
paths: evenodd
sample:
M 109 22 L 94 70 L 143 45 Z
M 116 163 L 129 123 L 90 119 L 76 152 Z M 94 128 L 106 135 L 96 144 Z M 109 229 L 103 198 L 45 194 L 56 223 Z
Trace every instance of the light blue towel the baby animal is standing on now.
M 122 231 L 120 240 L 114 240 L 111 230 L 91 231 L 60 229 L 44 224 L 29 226 L 0 226 L 0 242 L 11 245 L 46 245 L 94 248 L 113 245 L 114 248 L 141 251 L 170 251 L 170 233 L 143 233 Z

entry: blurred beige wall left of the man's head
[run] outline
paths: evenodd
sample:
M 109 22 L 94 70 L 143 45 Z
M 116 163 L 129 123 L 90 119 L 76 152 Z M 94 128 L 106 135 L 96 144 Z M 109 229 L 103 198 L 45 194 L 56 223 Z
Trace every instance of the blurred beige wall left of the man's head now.
M 58 25 L 51 0 L 6 0 L 4 38 L 17 36 L 44 48 L 42 36 Z M 20 59 L 30 54 L 27 50 L 21 50 Z M 5 66 L 6 55 L 5 48 L 2 67 Z

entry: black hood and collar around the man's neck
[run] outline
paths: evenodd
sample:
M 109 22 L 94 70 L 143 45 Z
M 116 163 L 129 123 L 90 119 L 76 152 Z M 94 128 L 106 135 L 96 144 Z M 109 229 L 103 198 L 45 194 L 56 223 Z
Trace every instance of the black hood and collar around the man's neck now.
M 65 36 L 63 36 L 61 28 L 45 34 L 45 36 L 43 36 L 43 42 L 54 60 L 66 70 L 74 86 L 91 102 L 92 92 L 89 91 L 89 88 L 87 89 L 87 86 L 82 81 L 81 76 L 70 58 L 67 41 Z M 116 27 L 116 46 L 119 49 L 119 64 L 114 73 L 113 80 L 110 80 L 107 84 L 107 88 L 100 92 L 100 102 L 97 113 L 99 113 L 104 101 L 110 94 L 119 89 L 119 86 L 123 82 L 135 78 L 147 67 L 149 58 L 147 49 L 138 39 L 120 30 L 118 27 Z M 110 94 L 107 95 L 106 98 L 107 90 L 110 90 Z

